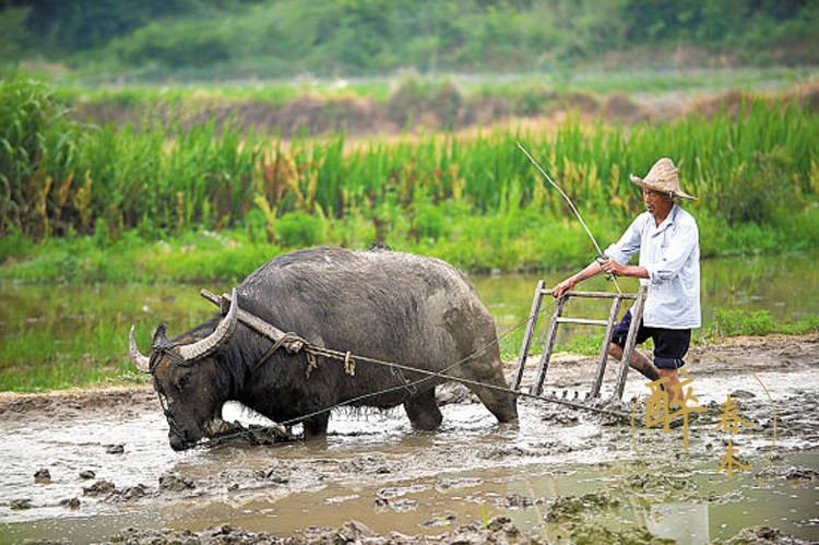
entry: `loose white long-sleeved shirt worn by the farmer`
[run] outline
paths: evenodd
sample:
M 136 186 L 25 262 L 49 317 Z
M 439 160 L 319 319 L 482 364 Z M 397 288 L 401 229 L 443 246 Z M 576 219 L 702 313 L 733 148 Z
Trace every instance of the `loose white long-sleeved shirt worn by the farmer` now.
M 660 225 L 650 212 L 643 212 L 606 249 L 606 256 L 620 264 L 640 252 L 640 265 L 649 271 L 648 279 L 640 279 L 642 285 L 649 286 L 643 309 L 646 327 L 700 327 L 699 238 L 693 216 L 675 204 Z

